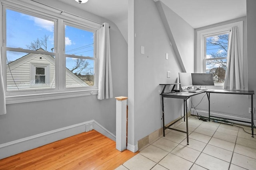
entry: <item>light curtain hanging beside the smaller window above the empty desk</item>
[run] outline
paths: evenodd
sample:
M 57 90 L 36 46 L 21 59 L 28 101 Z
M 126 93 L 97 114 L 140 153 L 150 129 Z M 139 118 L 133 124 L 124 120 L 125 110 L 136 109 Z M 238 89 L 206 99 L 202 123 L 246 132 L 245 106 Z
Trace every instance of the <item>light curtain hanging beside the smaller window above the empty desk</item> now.
M 227 70 L 223 88 L 227 90 L 244 90 L 242 55 L 237 26 L 231 28 L 227 57 Z

